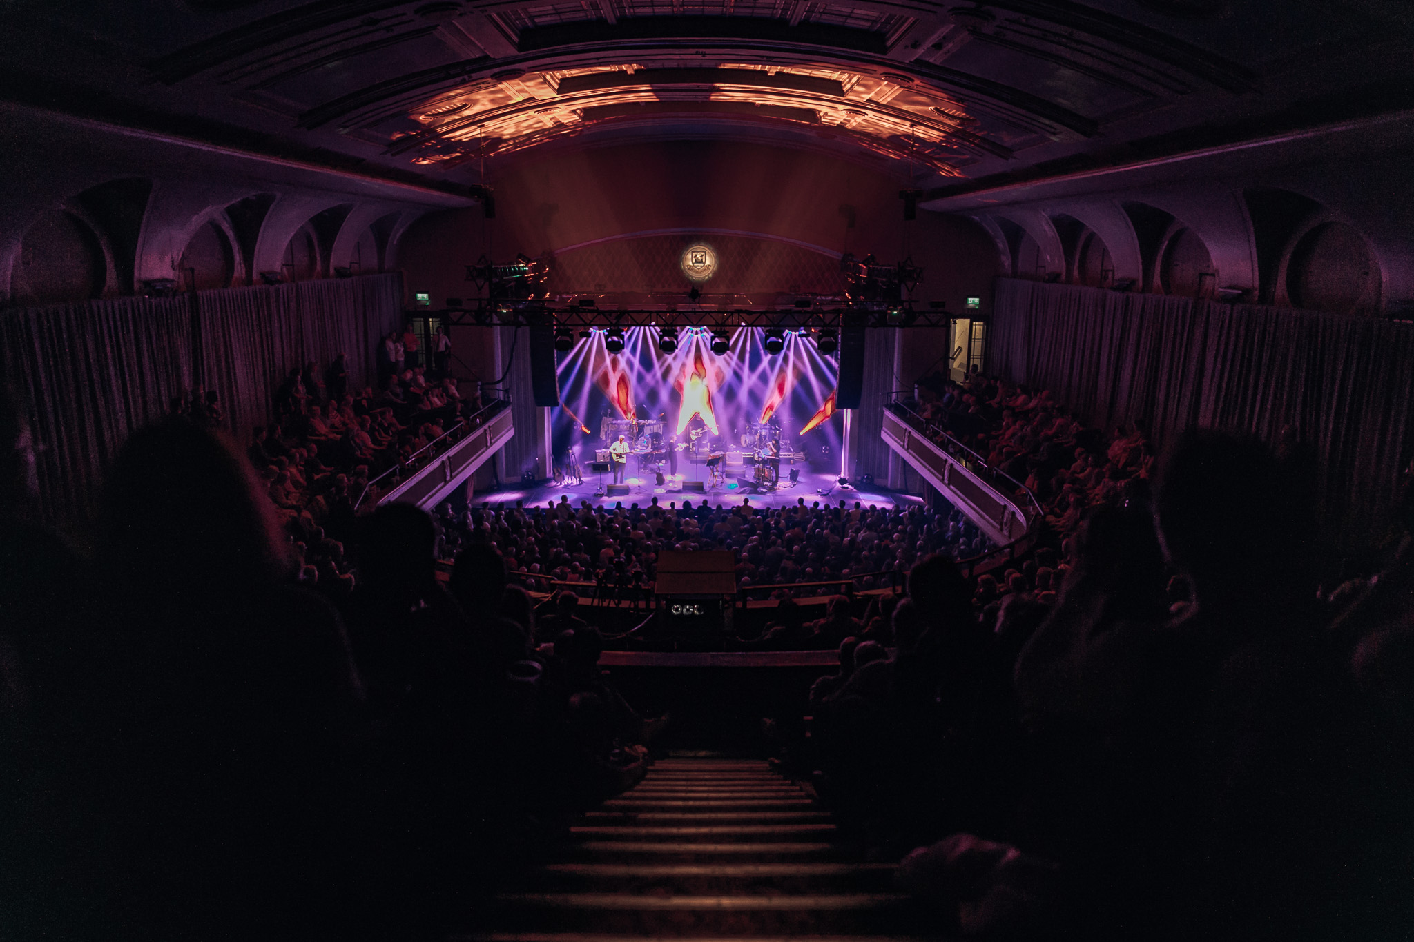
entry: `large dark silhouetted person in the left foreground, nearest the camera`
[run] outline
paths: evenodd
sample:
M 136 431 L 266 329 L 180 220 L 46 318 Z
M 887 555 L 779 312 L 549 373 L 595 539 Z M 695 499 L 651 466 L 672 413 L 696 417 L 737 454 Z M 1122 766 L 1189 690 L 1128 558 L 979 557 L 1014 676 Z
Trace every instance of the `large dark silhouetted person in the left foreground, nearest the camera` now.
M 335 612 L 284 582 L 276 520 L 195 425 L 134 432 L 109 475 L 93 617 L 112 643 L 68 771 L 93 815 L 75 874 L 123 938 L 344 924 L 362 688 Z

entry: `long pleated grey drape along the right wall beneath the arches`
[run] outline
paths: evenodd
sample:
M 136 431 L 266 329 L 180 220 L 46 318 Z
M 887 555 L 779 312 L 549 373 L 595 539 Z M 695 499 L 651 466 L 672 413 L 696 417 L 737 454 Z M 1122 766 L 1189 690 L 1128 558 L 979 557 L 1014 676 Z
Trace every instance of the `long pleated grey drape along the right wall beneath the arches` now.
M 1411 435 L 1414 326 L 1311 311 L 1000 278 L 994 373 L 1052 390 L 1083 419 L 1275 442 L 1299 429 L 1321 466 L 1331 532 L 1384 530 Z

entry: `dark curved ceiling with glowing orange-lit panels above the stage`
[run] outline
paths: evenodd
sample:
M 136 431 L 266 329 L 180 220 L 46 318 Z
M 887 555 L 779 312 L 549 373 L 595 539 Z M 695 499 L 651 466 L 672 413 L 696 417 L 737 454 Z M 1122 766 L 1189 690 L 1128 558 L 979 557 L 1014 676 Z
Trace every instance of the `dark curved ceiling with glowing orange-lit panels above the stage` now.
M 731 137 L 949 192 L 1414 106 L 1384 0 L 10 0 L 0 96 L 434 185 Z

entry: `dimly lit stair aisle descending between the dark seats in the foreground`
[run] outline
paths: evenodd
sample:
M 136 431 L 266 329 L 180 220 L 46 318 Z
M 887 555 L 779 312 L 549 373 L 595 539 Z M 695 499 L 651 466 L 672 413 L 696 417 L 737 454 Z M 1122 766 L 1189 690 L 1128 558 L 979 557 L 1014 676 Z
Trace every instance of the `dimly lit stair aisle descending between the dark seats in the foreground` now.
M 469 942 L 915 936 L 894 864 L 860 863 L 765 761 L 669 758 L 571 828 Z

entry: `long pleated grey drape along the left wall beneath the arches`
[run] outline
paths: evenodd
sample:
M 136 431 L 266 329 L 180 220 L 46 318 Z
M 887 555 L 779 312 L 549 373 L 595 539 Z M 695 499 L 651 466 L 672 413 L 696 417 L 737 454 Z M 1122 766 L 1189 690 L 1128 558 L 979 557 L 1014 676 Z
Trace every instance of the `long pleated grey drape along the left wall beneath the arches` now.
M 373 342 L 400 322 L 399 274 L 0 312 L 0 378 L 25 398 L 42 448 L 44 518 L 90 520 L 123 441 L 198 374 L 243 436 L 269 417 L 280 377 L 307 360 L 322 374 L 346 353 L 349 384 L 372 383 Z

